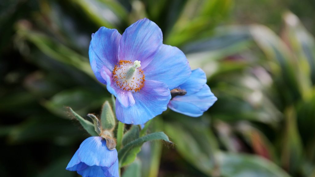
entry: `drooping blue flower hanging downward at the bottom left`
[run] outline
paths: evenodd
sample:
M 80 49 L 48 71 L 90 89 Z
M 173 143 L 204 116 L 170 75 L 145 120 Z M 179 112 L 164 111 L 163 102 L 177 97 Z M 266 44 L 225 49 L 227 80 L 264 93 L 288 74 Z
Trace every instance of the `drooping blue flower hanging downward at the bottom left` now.
M 117 150 L 108 150 L 100 136 L 85 139 L 70 160 L 67 170 L 83 177 L 119 177 Z

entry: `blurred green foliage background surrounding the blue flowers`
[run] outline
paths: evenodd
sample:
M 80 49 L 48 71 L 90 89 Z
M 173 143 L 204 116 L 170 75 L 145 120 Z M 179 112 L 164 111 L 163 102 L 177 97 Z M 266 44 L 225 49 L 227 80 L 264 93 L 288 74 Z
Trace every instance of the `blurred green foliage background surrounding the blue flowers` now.
M 202 117 L 165 111 L 149 131 L 143 177 L 315 176 L 315 1 L 0 1 L 0 174 L 71 177 L 89 135 L 81 116 L 110 99 L 88 58 L 100 26 L 147 17 L 201 67 L 218 101 Z

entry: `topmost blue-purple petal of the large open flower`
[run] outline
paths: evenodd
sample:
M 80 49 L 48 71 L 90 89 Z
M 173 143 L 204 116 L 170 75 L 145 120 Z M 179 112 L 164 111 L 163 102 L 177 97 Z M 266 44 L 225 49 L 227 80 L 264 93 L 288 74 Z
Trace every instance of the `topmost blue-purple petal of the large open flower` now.
M 119 60 L 141 61 L 144 69 L 162 45 L 161 29 L 149 19 L 141 19 L 129 26 L 120 41 Z

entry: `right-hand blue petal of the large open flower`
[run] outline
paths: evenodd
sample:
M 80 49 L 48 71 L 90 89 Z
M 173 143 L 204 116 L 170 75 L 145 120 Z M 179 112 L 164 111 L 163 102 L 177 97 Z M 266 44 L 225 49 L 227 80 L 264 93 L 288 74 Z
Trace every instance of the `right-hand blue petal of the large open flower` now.
M 191 74 L 185 54 L 177 47 L 164 44 L 144 71 L 146 79 L 166 83 L 170 90 L 184 83 Z

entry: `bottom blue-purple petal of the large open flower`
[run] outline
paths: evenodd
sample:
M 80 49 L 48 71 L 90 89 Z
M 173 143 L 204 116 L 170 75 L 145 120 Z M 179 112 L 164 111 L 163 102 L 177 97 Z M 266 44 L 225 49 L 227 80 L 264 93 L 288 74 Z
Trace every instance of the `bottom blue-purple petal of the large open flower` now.
M 128 124 L 143 124 L 167 109 L 171 98 L 166 84 L 146 80 L 144 87 L 133 93 L 135 105 L 127 108 L 116 101 L 117 119 Z

